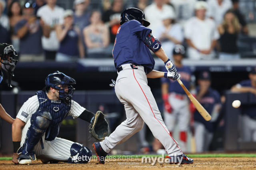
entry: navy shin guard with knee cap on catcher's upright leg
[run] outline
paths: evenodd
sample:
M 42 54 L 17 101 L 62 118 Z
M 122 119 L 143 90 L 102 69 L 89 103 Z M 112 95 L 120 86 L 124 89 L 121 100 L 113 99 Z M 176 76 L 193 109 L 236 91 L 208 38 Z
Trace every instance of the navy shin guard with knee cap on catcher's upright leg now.
M 52 116 L 46 109 L 39 109 L 33 113 L 30 119 L 31 125 L 28 128 L 26 141 L 17 153 L 30 153 L 44 135 L 44 132 L 49 127 L 51 120 Z

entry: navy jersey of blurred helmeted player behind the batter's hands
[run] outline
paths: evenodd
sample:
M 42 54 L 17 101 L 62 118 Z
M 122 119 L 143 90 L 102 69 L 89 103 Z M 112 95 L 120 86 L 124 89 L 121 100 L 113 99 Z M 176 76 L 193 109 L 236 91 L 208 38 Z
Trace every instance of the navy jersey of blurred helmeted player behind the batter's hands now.
M 191 79 L 191 70 L 188 66 L 176 67 L 177 72 L 180 74 L 180 80 L 184 84 L 184 86 L 189 89 L 190 79 Z M 166 72 L 166 68 L 162 68 L 163 72 Z M 169 93 L 175 92 L 178 94 L 186 94 L 183 88 L 180 86 L 178 81 L 173 81 L 170 78 L 161 78 L 162 83 L 169 83 Z

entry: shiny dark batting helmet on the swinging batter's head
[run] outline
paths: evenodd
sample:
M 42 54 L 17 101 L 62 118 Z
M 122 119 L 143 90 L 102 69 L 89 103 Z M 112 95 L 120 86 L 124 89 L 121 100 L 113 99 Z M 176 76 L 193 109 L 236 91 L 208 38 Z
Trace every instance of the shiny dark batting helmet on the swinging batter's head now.
M 121 14 L 120 25 L 130 20 L 137 20 L 145 27 L 150 25 L 150 23 L 145 20 L 145 14 L 142 12 L 142 10 L 137 8 L 127 8 L 124 10 Z

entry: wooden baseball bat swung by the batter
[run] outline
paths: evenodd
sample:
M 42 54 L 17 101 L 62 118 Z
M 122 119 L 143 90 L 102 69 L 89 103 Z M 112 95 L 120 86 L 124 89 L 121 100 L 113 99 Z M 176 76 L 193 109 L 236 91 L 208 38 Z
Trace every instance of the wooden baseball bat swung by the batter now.
M 184 86 L 181 80 L 177 80 L 180 84 L 180 86 L 183 88 L 183 90 L 188 95 L 188 98 L 191 100 L 191 102 L 194 104 L 198 112 L 204 117 L 206 121 L 209 121 L 212 119 L 212 116 L 204 109 L 204 107 L 194 98 L 194 96 L 188 91 L 188 89 Z

